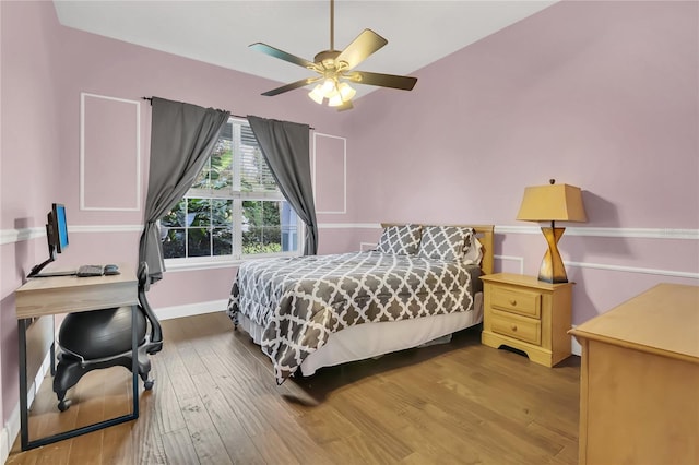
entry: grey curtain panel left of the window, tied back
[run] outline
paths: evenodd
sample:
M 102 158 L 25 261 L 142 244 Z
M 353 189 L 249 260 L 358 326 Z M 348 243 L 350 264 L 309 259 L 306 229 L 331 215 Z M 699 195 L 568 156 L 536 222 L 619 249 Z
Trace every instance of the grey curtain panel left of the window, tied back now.
M 155 283 L 165 271 L 157 220 L 192 186 L 229 112 L 158 97 L 151 105 L 151 168 L 139 262 L 147 262 L 151 283 Z

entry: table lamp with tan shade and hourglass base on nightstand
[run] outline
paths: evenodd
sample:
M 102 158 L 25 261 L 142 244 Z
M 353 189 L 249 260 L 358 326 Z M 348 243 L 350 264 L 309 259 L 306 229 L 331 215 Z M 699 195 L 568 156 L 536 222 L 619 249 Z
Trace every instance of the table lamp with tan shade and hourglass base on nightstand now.
M 555 179 L 548 186 L 533 186 L 524 189 L 522 205 L 517 219 L 524 222 L 550 222 L 550 227 L 542 226 L 548 242 L 548 250 L 538 270 L 538 281 L 546 283 L 568 283 L 566 267 L 558 252 L 558 240 L 566 228 L 556 227 L 555 222 L 588 220 L 582 205 L 580 188 L 557 184 Z

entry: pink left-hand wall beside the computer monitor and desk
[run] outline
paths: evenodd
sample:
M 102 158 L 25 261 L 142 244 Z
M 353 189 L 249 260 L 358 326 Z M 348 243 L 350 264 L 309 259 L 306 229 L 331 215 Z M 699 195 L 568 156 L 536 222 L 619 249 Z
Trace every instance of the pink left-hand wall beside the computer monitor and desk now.
M 7 32 L 15 26 L 13 21 L 16 17 L 9 11 L 9 7 L 8 3 L 0 4 L 2 230 L 35 227 L 44 220 L 47 205 L 50 206 L 48 199 L 59 191 L 59 182 L 52 174 L 60 169 L 59 152 L 56 150 L 60 139 L 56 123 L 59 110 L 54 87 L 57 63 L 49 48 L 37 47 L 27 53 L 20 47 L 24 43 L 23 38 L 19 43 L 9 40 Z M 55 29 L 52 23 L 55 20 L 50 15 L 37 14 L 27 24 L 32 28 L 31 40 L 51 43 Z M 34 261 L 34 245 L 28 241 L 0 246 L 0 408 L 3 420 L 7 420 L 19 403 L 17 323 L 13 293 L 21 284 L 17 276 L 23 273 L 22 267 Z

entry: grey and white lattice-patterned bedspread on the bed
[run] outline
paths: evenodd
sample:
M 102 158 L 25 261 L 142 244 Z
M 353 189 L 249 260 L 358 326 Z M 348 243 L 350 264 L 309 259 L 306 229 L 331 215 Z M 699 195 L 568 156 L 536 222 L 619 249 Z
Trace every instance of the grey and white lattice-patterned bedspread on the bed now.
M 472 310 L 478 275 L 476 265 L 377 251 L 256 260 L 238 270 L 227 311 L 264 329 L 281 384 L 346 326 Z

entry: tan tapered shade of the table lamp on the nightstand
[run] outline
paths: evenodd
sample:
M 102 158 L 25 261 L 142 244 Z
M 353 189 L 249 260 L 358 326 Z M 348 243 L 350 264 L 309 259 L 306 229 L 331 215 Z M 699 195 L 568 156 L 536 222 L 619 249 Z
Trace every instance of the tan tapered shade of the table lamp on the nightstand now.
M 517 219 L 524 222 L 587 222 L 580 188 L 570 184 L 534 186 L 524 189 Z

